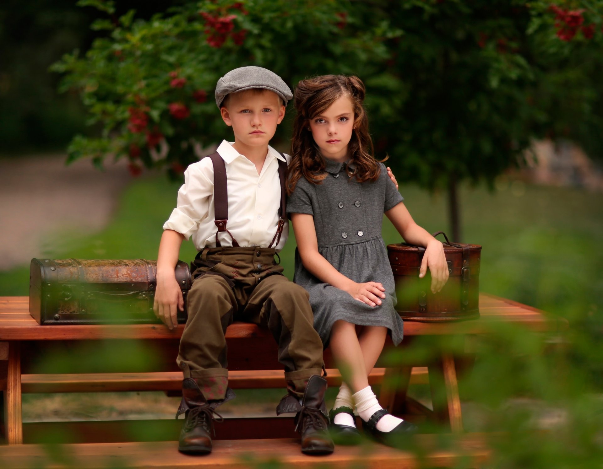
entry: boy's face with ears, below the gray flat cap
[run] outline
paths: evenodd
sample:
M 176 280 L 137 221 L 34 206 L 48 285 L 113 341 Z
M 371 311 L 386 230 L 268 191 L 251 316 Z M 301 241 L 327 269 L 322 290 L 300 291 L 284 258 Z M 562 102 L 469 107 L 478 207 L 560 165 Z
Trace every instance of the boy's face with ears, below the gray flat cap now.
M 265 146 L 285 117 L 279 95 L 270 90 L 246 90 L 227 96 L 220 112 L 226 125 L 232 126 L 235 142 L 247 146 Z

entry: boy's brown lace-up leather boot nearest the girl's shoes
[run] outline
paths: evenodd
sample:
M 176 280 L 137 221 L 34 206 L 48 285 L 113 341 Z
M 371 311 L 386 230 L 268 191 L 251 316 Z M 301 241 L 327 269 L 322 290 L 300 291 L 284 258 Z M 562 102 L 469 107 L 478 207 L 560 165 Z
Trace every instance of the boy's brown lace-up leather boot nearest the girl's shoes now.
M 301 400 L 301 409 L 295 415 L 295 430 L 301 435 L 301 452 L 307 455 L 328 455 L 333 452 L 333 440 L 327 433 L 329 417 L 324 406 L 327 380 L 314 374 L 308 380 Z

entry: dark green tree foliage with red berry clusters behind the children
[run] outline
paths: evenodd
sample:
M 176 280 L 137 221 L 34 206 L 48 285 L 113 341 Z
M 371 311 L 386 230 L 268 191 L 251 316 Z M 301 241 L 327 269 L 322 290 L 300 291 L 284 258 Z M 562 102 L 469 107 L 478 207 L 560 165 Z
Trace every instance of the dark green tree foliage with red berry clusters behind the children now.
M 89 123 L 103 127 L 99 138 L 76 137 L 69 158 L 128 157 L 133 174 L 159 166 L 177 177 L 200 156 L 197 145 L 229 136 L 213 90 L 244 65 L 292 85 L 359 75 L 377 154 L 395 157 L 400 180 L 431 189 L 451 178 L 491 183 L 525 161 L 535 137 L 569 137 L 600 154 L 602 5 L 205 0 L 150 20 L 128 11 L 93 25 L 107 36 L 84 57 L 54 66 L 62 89 L 80 92 Z

